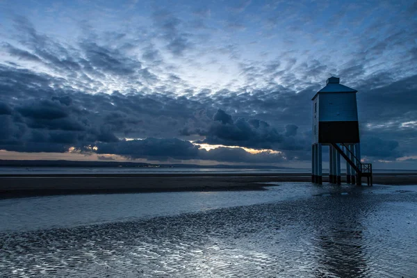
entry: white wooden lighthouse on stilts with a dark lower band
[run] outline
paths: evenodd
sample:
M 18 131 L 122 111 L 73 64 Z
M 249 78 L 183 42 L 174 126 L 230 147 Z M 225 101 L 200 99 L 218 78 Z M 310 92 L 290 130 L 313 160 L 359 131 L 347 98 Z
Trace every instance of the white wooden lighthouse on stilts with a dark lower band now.
M 346 182 L 372 186 L 372 165 L 361 162 L 357 90 L 330 77 L 313 99 L 311 179 L 322 183 L 322 146 L 329 146 L 329 182 L 341 184 L 341 156 L 346 161 Z

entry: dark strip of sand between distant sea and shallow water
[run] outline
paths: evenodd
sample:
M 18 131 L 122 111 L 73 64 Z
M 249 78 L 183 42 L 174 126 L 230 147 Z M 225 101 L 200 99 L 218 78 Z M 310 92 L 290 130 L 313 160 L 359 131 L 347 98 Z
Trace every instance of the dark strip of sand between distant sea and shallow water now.
M 374 174 L 374 184 L 417 184 L 417 172 Z M 311 181 L 311 174 L 1 174 L 0 198 L 66 194 L 264 190 L 270 182 Z M 327 182 L 328 177 L 323 177 Z M 345 181 L 345 177 L 342 177 Z M 363 186 L 366 186 L 363 179 Z

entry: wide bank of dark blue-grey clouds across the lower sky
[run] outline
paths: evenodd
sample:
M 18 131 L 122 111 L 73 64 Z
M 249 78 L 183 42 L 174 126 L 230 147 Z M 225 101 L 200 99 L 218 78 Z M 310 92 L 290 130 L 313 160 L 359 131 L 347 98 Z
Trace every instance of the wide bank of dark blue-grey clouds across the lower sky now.
M 220 149 L 211 151 L 213 153 L 200 149 L 195 152 L 195 146 L 183 140 L 171 139 L 170 142 L 165 142 L 154 139 L 131 142 L 118 139 L 170 138 L 181 133 L 183 138 L 199 136 L 199 142 L 276 149 L 284 151 L 289 160 L 309 159 L 311 133 L 305 131 L 310 128 L 306 119 L 311 113 L 310 98 L 316 90 L 314 86 L 297 94 L 288 88 L 278 86 L 252 92 L 224 90 L 214 96 L 202 94 L 197 99 L 191 99 L 175 97 L 172 94 L 147 95 L 138 91 L 129 95 L 122 95 L 120 92 L 113 92 L 111 95 L 90 95 L 73 90 L 66 91 L 49 86 L 51 82 L 59 84 L 60 79 L 10 67 L 1 67 L 0 76 L 6 77 L 0 83 L 0 111 L 5 116 L 2 119 L 2 133 L 6 134 L 1 138 L 1 149 L 21 152 L 66 152 L 69 147 L 85 149 L 88 145 L 100 145 L 100 154 L 120 154 L 130 158 L 154 156 L 157 159 L 217 159 L 224 162 L 238 162 L 241 159 L 242 162 L 250 163 L 276 162 L 281 159 L 277 158 L 276 154 L 245 154 L 242 149 Z M 24 83 L 18 82 L 21 78 L 25 79 Z M 393 119 L 393 115 L 385 113 L 392 113 L 395 109 L 406 112 L 398 113 L 394 117 L 399 122 L 414 120 L 415 109 L 411 104 L 414 95 L 411 92 L 414 91 L 415 84 L 414 79 L 405 79 L 395 83 L 393 87 L 387 86 L 363 93 L 363 97 L 369 94 L 375 95 L 375 99 L 361 99 L 361 104 L 370 101 L 392 103 L 391 111 L 381 109 L 373 113 L 368 112 L 366 122 L 375 122 L 381 117 Z M 9 92 L 13 91 L 16 93 L 10 95 Z M 407 99 L 393 101 L 389 92 L 404 95 Z M 363 107 L 361 104 L 360 109 Z M 213 106 L 227 107 L 238 112 L 232 117 L 222 110 L 215 110 Z M 363 107 L 360 113 L 364 113 L 366 109 L 366 106 Z M 253 111 L 261 113 L 256 113 L 254 117 Z M 290 121 L 293 124 L 288 124 Z M 300 129 L 303 132 L 300 132 Z M 384 132 L 377 132 L 370 131 L 366 124 L 363 125 L 364 136 L 374 134 L 386 138 L 389 142 L 380 142 L 378 138 L 373 138 L 377 142 L 375 145 L 379 146 L 382 152 L 377 153 L 377 149 L 372 147 L 368 152 L 368 147 L 365 147 L 368 143 L 364 139 L 363 155 L 375 158 L 399 157 L 404 153 L 404 149 L 401 149 L 400 141 L 398 145 L 391 142 L 395 141 L 395 138 L 390 136 L 397 131 L 408 138 L 414 135 L 406 134 L 404 130 L 408 129 L 398 129 L 398 125 L 387 126 Z M 158 144 L 165 144 L 162 148 L 166 152 L 165 155 L 156 150 Z M 373 143 L 370 142 L 368 145 Z M 135 146 L 138 146 L 138 149 Z M 155 149 L 145 152 L 145 146 Z M 170 147 L 181 150 L 181 154 L 174 152 L 174 149 L 170 151 Z

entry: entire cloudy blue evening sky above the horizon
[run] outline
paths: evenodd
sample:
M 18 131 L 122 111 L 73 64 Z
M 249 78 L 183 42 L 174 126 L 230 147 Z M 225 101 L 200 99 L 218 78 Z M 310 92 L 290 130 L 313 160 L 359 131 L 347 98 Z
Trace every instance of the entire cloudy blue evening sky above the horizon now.
M 310 167 L 338 76 L 363 161 L 417 169 L 416 65 L 417 1 L 0 0 L 0 159 Z

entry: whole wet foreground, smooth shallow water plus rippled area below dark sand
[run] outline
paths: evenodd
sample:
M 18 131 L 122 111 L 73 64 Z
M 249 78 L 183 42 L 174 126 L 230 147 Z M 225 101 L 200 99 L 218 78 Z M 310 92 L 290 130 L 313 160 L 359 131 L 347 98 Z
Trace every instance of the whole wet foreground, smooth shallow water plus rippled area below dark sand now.
M 417 277 L 417 186 L 279 184 L 0 200 L 0 277 Z

